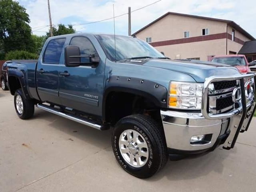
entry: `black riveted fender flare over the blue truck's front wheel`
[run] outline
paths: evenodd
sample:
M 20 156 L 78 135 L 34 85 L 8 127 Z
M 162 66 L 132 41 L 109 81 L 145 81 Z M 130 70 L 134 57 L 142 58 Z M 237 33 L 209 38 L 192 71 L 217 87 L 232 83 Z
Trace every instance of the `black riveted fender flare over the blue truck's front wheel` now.
M 102 120 L 106 120 L 106 102 L 111 92 L 126 92 L 143 96 L 151 100 L 159 108 L 166 108 L 168 90 L 149 80 L 127 76 L 111 76 L 107 79 L 102 101 Z

